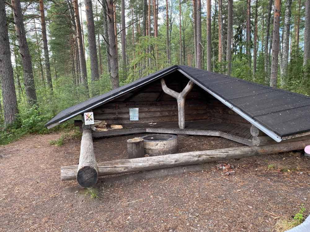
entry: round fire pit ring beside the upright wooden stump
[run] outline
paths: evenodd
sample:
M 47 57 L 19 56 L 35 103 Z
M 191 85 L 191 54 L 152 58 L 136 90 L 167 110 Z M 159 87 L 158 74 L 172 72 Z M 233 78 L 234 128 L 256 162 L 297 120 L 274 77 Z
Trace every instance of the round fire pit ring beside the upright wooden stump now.
M 174 154 L 178 151 L 178 142 L 175 135 L 146 135 L 142 138 L 144 143 L 144 153 L 149 156 Z

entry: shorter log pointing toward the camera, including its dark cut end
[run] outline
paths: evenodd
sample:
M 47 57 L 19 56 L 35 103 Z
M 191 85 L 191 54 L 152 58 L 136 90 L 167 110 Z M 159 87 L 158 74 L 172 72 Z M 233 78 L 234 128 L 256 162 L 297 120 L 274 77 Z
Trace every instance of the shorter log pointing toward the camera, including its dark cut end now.
M 97 183 L 97 162 L 91 130 L 83 131 L 79 165 L 75 170 L 76 180 L 82 187 L 91 187 Z

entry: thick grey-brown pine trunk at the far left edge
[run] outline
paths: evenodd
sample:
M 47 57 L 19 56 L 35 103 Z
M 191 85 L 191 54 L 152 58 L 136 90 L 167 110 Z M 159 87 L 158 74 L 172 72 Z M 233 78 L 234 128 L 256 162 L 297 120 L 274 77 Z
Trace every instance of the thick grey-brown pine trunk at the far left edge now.
M 4 123 L 12 124 L 18 114 L 11 63 L 10 41 L 7 29 L 5 3 L 0 1 L 0 80 L 2 88 Z M 1 107 L 1 106 L 0 106 Z

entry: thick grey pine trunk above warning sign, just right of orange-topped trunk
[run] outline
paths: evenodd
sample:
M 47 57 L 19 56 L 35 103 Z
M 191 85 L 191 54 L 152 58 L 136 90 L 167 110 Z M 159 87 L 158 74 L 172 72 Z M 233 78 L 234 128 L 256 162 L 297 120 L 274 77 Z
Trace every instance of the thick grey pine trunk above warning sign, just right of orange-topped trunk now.
M 93 15 L 93 6 L 91 0 L 84 0 L 86 11 L 86 23 L 87 23 L 87 41 L 89 48 L 89 57 L 91 61 L 91 95 L 98 95 L 98 88 L 95 88 L 93 81 L 99 80 L 99 68 L 98 68 L 98 56 L 95 34 L 95 23 Z

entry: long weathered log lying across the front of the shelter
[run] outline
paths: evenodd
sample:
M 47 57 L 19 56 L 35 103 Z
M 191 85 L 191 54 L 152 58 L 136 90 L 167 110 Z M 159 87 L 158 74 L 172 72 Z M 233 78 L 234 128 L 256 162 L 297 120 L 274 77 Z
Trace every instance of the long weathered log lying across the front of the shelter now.
M 192 165 L 206 162 L 214 162 L 227 159 L 240 159 L 256 155 L 273 154 L 303 149 L 310 140 L 301 140 L 287 143 L 277 143 L 267 146 L 245 146 L 236 148 L 224 148 L 209 151 L 187 152 L 170 154 L 165 156 L 144 157 L 127 160 L 105 161 L 97 164 L 99 176 L 139 172 L 181 165 Z M 61 180 L 75 179 L 77 165 L 61 167 Z

